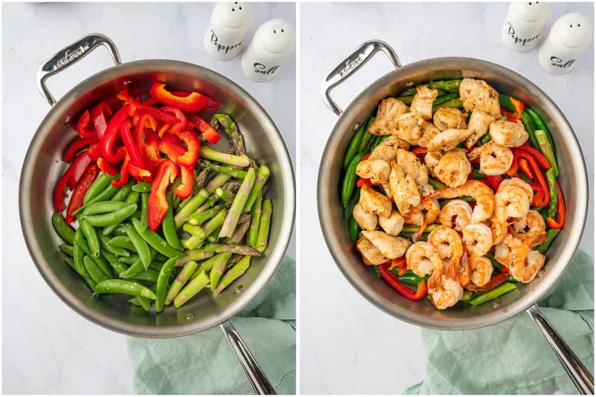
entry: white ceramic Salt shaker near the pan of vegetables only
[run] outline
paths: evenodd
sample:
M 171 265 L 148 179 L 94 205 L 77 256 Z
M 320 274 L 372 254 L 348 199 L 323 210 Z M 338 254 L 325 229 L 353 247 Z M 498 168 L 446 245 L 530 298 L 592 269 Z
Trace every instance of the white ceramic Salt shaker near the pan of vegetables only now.
M 266 21 L 254 32 L 252 42 L 242 54 L 244 74 L 256 82 L 273 79 L 295 42 L 296 33 L 289 21 L 283 18 Z

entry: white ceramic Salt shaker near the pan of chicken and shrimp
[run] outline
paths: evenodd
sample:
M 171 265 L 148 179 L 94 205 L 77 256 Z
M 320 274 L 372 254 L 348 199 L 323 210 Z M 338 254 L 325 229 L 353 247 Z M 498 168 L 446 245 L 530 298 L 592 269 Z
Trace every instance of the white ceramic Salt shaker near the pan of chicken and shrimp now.
M 577 58 L 588 49 L 591 40 L 590 19 L 579 12 L 570 12 L 552 24 L 538 50 L 538 60 L 548 73 L 567 73 L 575 68 Z

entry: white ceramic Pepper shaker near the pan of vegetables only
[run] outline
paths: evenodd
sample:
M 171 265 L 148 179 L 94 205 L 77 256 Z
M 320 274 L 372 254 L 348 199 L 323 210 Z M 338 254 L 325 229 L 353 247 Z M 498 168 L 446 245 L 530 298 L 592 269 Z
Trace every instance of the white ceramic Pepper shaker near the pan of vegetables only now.
M 240 54 L 244 35 L 253 21 L 253 7 L 244 2 L 221 2 L 215 5 L 205 33 L 207 53 L 218 60 L 229 60 Z

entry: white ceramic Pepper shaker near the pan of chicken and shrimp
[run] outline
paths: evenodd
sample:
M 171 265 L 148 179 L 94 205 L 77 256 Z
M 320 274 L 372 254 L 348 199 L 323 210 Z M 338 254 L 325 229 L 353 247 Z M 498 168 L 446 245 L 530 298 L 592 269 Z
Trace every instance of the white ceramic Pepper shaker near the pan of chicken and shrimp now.
M 501 32 L 505 45 L 517 52 L 535 48 L 547 23 L 549 11 L 550 4 L 545 2 L 512 2 Z

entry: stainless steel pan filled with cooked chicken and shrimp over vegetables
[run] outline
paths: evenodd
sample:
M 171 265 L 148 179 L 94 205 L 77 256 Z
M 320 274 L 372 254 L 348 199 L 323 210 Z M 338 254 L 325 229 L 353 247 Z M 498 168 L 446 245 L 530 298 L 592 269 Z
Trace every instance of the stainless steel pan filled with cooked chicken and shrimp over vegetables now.
M 342 111 L 330 90 L 378 51 L 396 70 Z M 482 60 L 402 66 L 379 41 L 340 62 L 321 92 L 339 120 L 319 168 L 319 218 L 349 282 L 419 326 L 472 329 L 530 308 L 545 329 L 534 304 L 569 265 L 588 205 L 582 151 L 551 99 Z M 563 345 L 553 348 L 570 352 Z

